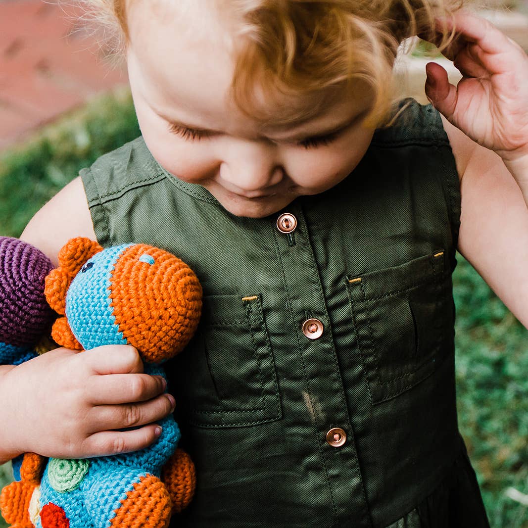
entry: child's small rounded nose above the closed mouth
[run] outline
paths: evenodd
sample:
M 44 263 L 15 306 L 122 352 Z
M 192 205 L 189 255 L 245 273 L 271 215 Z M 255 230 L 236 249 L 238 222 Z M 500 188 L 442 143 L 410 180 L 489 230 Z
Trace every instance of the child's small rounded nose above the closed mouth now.
M 220 178 L 247 193 L 262 191 L 279 183 L 284 168 L 279 163 L 276 146 L 266 142 L 244 142 L 223 156 Z

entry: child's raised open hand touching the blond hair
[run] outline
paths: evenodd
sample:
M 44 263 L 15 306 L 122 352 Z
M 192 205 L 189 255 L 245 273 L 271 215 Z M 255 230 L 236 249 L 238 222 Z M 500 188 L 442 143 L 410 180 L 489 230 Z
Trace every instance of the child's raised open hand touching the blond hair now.
M 460 11 L 451 20 L 438 20 L 438 27 L 442 24 L 454 27 L 456 37 L 444 54 L 463 78 L 455 87 L 444 68 L 427 64 L 427 97 L 453 125 L 506 164 L 528 166 L 528 55 L 476 15 Z

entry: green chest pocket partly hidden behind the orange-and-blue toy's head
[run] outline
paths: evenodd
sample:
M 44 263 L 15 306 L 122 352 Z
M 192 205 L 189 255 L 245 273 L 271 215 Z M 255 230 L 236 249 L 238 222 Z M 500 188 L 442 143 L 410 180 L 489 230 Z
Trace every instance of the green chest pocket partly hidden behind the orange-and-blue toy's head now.
M 259 295 L 205 296 L 200 326 L 175 368 L 182 412 L 196 426 L 242 427 L 281 418 Z

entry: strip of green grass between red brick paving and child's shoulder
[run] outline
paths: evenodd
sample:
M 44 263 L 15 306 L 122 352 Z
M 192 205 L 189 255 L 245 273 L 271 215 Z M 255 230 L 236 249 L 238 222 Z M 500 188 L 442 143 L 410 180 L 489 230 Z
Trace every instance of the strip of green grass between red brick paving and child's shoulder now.
M 130 93 L 120 89 L 0 155 L 0 235 L 18 236 L 79 169 L 138 135 Z

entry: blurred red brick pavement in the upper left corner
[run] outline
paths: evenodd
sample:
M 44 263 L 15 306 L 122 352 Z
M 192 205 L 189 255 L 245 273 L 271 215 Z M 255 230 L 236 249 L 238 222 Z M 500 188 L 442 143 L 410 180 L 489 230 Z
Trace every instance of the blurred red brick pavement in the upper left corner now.
M 126 82 L 126 73 L 110 68 L 93 38 L 79 31 L 72 8 L 0 0 L 0 149 Z

